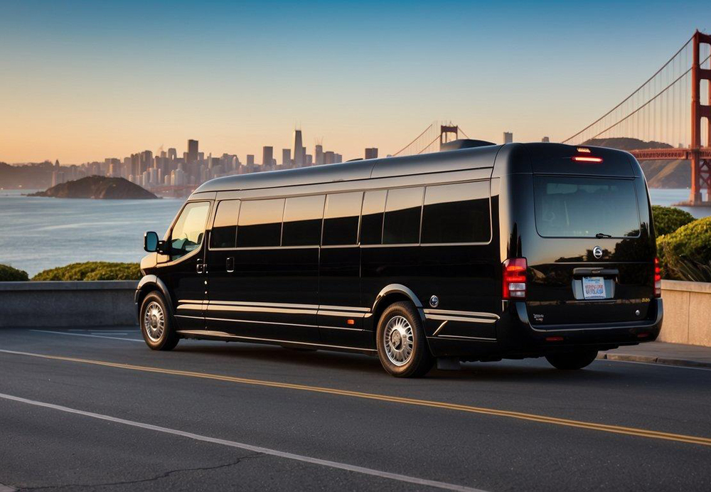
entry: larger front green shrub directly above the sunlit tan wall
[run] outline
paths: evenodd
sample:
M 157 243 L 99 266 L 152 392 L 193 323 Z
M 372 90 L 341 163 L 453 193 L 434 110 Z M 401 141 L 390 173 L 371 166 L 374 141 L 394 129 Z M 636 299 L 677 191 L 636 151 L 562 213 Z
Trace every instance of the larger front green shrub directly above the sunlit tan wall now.
M 658 237 L 657 255 L 665 279 L 698 282 L 698 275 L 705 271 L 702 266 L 711 262 L 711 217 Z

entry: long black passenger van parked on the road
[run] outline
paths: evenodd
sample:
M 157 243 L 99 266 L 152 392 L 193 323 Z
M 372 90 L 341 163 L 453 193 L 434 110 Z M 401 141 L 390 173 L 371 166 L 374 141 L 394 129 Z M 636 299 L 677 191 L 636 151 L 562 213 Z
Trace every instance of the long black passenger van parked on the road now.
M 662 322 L 646 182 L 613 149 L 473 141 L 216 178 L 144 246 L 135 301 L 156 350 L 355 351 L 395 376 L 540 356 L 579 369 Z

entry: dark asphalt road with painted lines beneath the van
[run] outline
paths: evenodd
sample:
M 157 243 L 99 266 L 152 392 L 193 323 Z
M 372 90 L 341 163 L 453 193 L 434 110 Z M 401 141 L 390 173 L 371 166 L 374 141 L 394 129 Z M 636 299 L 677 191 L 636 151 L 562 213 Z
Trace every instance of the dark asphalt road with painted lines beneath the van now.
M 711 490 L 711 370 L 0 329 L 0 492 Z

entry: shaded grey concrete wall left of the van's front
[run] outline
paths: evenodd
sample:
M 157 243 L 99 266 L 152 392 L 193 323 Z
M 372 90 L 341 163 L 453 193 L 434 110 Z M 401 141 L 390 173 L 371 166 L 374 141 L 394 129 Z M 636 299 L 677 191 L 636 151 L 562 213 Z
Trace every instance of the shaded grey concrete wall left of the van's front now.
M 138 282 L 0 282 L 0 327 L 137 325 Z

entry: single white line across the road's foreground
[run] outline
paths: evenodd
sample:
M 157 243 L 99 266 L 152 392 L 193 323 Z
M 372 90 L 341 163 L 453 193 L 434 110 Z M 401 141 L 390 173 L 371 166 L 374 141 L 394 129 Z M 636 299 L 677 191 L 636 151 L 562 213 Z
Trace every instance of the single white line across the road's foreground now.
M 419 486 L 429 486 L 434 488 L 442 488 L 447 491 L 463 491 L 463 492 L 485 492 L 480 488 L 471 488 L 462 485 L 456 485 L 454 483 L 439 482 L 435 480 L 427 480 L 427 478 L 418 478 L 416 476 L 408 476 L 401 474 L 393 474 L 389 471 L 380 471 L 371 468 L 365 468 L 364 466 L 351 465 L 346 463 L 340 463 L 338 461 L 330 461 L 328 459 L 319 459 L 312 456 L 304 456 L 301 454 L 288 453 L 286 451 L 278 451 L 277 449 L 264 448 L 262 446 L 252 446 L 252 444 L 244 444 L 242 442 L 228 441 L 227 439 L 218 439 L 216 437 L 203 436 L 201 434 L 193 434 L 192 432 L 181 431 L 178 429 L 169 429 L 168 427 L 161 427 L 159 425 L 144 424 L 143 422 L 136 422 L 134 420 L 121 419 L 119 417 L 111 417 L 110 415 L 103 415 L 94 412 L 86 412 L 85 410 L 77 410 L 75 408 L 63 407 L 61 405 L 54 405 L 53 403 L 38 402 L 36 400 L 28 400 L 26 398 L 6 395 L 0 393 L 0 398 L 4 400 L 12 400 L 14 402 L 26 403 L 28 405 L 34 405 L 36 407 L 45 407 L 52 410 L 59 410 L 60 412 L 72 413 L 75 415 L 82 415 L 84 417 L 91 417 L 92 419 L 106 420 L 108 422 L 115 422 L 117 424 L 130 425 L 132 427 L 140 427 L 141 429 L 149 429 L 156 432 L 164 432 L 165 434 L 173 434 L 176 436 L 187 437 L 188 439 L 195 439 L 196 441 L 210 442 L 213 444 L 222 444 L 223 446 L 230 446 L 233 448 L 245 449 L 247 451 L 253 451 L 255 453 L 268 454 L 269 456 L 277 456 L 279 458 L 292 459 L 294 461 L 302 461 L 304 463 L 326 466 L 328 468 L 335 468 L 339 470 L 353 471 L 358 474 L 377 476 L 380 478 L 389 478 L 390 480 L 396 480 L 406 483 L 414 483 Z M 14 490 L 14 489 L 10 489 Z M 3 492 L 0 488 L 0 492 Z

